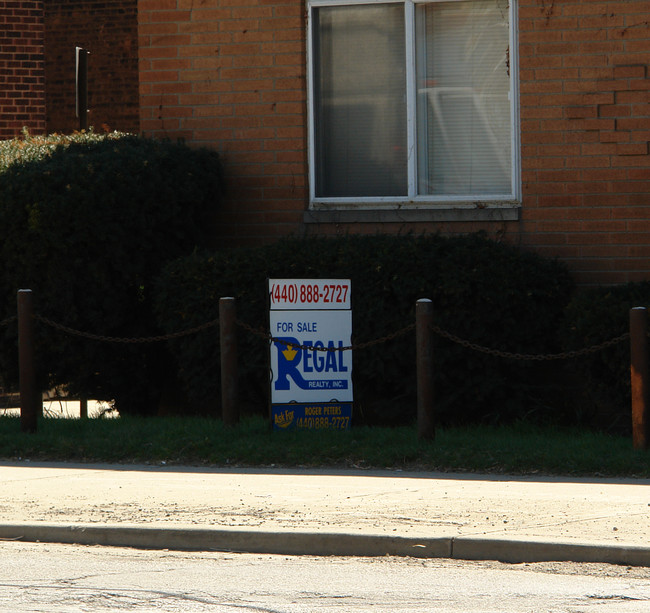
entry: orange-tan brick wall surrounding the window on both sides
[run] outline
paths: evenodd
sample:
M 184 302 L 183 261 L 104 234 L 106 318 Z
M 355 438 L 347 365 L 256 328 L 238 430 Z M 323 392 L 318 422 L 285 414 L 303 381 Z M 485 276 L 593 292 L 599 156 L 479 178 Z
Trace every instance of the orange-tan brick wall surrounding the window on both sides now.
M 486 230 L 568 262 L 582 283 L 650 278 L 650 2 L 519 0 L 519 221 L 302 224 L 305 6 L 141 0 L 143 130 L 217 148 L 230 181 L 215 232 Z

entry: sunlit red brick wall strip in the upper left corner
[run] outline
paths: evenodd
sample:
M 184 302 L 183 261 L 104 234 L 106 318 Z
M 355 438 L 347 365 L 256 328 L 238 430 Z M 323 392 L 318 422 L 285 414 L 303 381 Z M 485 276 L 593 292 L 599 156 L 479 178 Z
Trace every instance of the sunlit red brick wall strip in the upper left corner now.
M 42 1 L 0 1 L 0 140 L 45 129 Z

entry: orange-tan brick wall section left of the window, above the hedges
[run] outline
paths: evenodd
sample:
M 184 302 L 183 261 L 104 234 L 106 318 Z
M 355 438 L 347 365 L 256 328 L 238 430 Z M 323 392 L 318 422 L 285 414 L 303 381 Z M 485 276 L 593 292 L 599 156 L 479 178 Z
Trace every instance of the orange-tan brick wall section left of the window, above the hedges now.
M 145 134 L 213 146 L 228 202 L 215 232 L 254 244 L 301 227 L 306 203 L 304 6 L 140 0 Z

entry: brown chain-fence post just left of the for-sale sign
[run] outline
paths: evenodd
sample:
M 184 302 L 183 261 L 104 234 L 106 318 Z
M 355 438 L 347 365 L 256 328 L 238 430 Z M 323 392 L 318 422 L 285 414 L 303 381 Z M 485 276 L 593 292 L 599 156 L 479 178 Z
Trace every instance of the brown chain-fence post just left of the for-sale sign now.
M 239 422 L 237 389 L 237 311 L 234 298 L 219 300 L 219 331 L 221 341 L 221 412 L 223 423 L 234 426 Z

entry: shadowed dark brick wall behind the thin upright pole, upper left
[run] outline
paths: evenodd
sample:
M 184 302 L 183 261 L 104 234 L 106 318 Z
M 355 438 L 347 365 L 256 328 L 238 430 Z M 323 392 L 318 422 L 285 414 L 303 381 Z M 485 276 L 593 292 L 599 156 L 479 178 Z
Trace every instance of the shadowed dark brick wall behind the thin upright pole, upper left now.
M 47 131 L 79 128 L 75 47 L 89 51 L 88 125 L 139 132 L 137 0 L 45 2 Z

